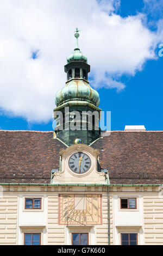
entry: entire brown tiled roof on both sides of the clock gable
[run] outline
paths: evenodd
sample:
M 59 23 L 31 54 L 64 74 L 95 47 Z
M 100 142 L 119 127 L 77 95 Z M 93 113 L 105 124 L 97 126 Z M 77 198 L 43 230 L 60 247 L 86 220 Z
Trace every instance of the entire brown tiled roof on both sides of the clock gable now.
M 163 184 L 162 131 L 112 131 L 92 144 L 110 184 Z M 0 183 L 50 183 L 66 148 L 53 132 L 0 130 Z

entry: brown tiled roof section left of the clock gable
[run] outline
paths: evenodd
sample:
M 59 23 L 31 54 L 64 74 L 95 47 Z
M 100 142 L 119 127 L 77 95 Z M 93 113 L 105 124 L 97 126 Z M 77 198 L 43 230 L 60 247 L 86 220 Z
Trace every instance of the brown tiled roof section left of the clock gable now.
M 52 131 L 0 131 L 0 182 L 50 183 L 62 148 Z

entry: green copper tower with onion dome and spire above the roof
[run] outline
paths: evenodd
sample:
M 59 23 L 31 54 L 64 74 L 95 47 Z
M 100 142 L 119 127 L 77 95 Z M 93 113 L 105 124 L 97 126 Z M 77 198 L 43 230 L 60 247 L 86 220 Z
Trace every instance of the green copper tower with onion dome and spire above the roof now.
M 74 33 L 76 47 L 67 57 L 65 72 L 67 81 L 55 98 L 54 119 L 57 120 L 57 138 L 68 146 L 79 138 L 90 145 L 101 136 L 99 129 L 99 95 L 88 81 L 90 65 L 78 46 L 79 30 Z

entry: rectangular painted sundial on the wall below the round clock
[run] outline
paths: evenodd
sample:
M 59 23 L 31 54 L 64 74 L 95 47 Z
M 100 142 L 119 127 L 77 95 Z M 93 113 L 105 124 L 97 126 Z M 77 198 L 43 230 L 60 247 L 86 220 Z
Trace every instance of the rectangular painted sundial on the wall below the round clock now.
M 59 225 L 101 225 L 102 194 L 59 194 Z

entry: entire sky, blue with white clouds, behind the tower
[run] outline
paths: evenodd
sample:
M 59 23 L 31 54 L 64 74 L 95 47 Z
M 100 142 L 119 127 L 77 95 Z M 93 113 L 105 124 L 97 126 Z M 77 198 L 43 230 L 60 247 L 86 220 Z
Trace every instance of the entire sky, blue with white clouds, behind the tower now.
M 162 13 L 162 0 L 2 0 L 0 129 L 53 130 L 55 94 L 65 85 L 78 27 L 111 130 L 163 130 Z

